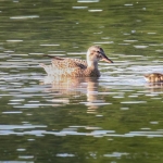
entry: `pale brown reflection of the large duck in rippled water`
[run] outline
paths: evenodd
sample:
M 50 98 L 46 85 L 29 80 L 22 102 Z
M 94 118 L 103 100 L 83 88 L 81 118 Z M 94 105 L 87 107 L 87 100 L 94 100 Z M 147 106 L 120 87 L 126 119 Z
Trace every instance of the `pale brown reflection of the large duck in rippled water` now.
M 95 109 L 98 109 L 99 104 L 102 105 L 103 102 L 98 93 L 99 82 L 97 77 L 72 78 L 48 75 L 40 84 L 50 84 L 48 91 L 54 92 L 61 98 L 68 96 L 68 99 L 66 100 L 68 103 L 77 102 L 87 105 L 89 113 L 93 113 L 96 111 Z

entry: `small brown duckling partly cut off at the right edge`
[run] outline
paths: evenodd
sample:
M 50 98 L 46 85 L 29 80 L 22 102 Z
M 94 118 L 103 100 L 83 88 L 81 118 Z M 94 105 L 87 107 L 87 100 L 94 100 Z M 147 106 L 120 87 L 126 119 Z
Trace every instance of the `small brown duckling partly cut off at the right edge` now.
M 163 82 L 163 74 L 160 73 L 147 74 L 145 75 L 145 78 L 149 83 L 159 83 L 159 82 Z

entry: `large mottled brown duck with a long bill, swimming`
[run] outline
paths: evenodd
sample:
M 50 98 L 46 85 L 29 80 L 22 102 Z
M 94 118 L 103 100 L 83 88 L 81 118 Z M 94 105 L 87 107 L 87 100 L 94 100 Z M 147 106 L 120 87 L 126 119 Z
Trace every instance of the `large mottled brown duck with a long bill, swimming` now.
M 52 58 L 50 65 L 40 63 L 40 66 L 45 68 L 47 74 L 64 77 L 99 77 L 100 71 L 98 68 L 98 62 L 104 61 L 106 63 L 113 63 L 99 46 L 88 48 L 86 60 L 51 57 L 48 54 L 45 57 Z

